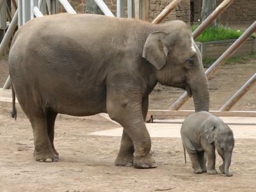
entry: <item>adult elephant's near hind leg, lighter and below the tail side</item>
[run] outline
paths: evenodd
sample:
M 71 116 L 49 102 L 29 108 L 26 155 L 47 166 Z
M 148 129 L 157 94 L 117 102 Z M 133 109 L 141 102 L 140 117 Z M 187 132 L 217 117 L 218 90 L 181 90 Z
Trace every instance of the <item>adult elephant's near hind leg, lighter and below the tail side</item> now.
M 55 153 L 47 132 L 47 118 L 45 115 L 36 114 L 29 117 L 34 132 L 34 156 L 36 161 L 52 162 Z

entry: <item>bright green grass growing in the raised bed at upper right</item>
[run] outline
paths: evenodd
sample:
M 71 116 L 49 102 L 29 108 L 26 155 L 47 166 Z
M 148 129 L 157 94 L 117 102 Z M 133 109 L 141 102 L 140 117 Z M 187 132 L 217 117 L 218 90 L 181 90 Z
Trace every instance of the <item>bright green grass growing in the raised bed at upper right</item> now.
M 192 31 L 195 31 L 198 28 L 198 24 L 195 24 L 191 27 Z M 218 41 L 218 40 L 229 40 L 229 39 L 236 39 L 239 38 L 243 34 L 244 31 L 239 31 L 236 29 L 226 28 L 224 26 L 216 26 L 207 28 L 198 38 L 196 41 L 198 42 L 211 42 L 211 41 Z M 253 34 L 252 38 L 256 38 L 256 35 Z

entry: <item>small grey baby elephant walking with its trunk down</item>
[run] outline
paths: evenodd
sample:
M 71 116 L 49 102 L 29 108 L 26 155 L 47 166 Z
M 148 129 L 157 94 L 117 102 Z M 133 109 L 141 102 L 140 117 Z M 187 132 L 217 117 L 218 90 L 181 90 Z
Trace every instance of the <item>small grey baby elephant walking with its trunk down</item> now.
M 206 111 L 194 113 L 186 118 L 180 134 L 185 162 L 187 150 L 194 173 L 217 173 L 215 169 L 216 147 L 223 159 L 223 164 L 219 167 L 220 171 L 227 176 L 232 176 L 228 169 L 235 143 L 234 136 L 232 130 L 220 118 Z

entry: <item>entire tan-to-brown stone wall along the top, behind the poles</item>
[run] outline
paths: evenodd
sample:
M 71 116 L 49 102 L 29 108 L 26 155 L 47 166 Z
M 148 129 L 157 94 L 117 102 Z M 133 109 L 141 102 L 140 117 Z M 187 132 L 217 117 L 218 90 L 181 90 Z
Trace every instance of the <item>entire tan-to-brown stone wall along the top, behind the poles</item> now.
M 84 13 L 86 0 L 68 0 L 77 13 Z M 104 0 L 111 12 L 116 15 L 116 0 Z M 168 5 L 172 0 L 150 0 L 150 20 L 156 16 Z M 220 4 L 223 0 L 217 0 Z M 200 13 L 202 8 L 202 0 L 182 0 L 175 11 L 170 13 L 165 20 L 180 19 L 189 22 L 191 18 L 190 3 L 193 2 L 195 17 L 194 20 L 201 20 Z M 125 0 L 127 4 L 127 0 Z M 127 10 L 127 8 L 125 8 Z M 126 14 L 125 14 L 126 15 Z M 236 0 L 225 12 L 222 13 L 219 21 L 225 22 L 253 22 L 256 20 L 256 0 Z

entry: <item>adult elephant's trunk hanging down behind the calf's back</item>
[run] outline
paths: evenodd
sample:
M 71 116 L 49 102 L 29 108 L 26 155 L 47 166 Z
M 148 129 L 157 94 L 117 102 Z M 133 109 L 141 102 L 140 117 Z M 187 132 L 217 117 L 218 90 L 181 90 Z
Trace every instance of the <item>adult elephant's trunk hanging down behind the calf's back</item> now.
M 195 111 L 209 111 L 209 85 L 204 72 L 189 82 L 189 88 L 193 95 Z

